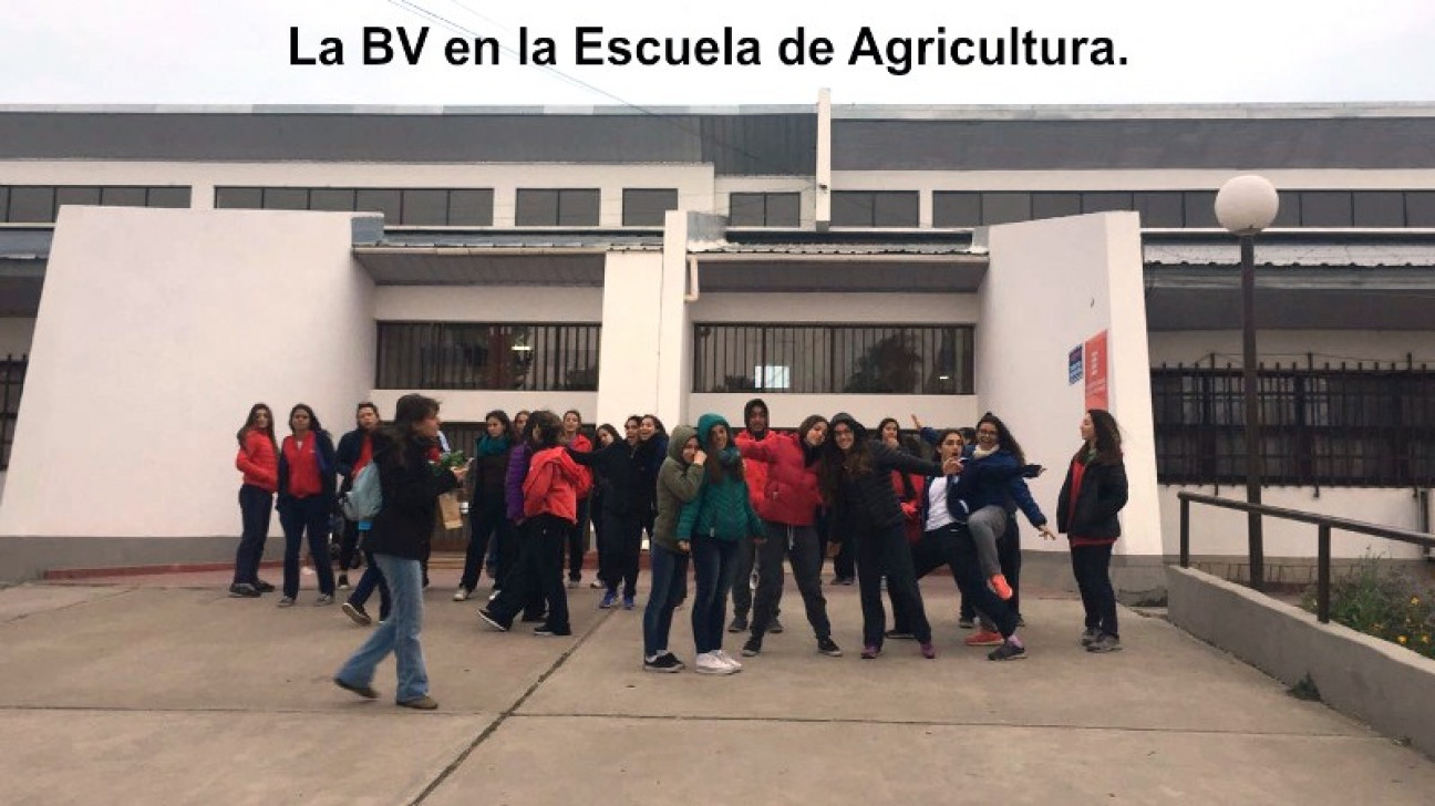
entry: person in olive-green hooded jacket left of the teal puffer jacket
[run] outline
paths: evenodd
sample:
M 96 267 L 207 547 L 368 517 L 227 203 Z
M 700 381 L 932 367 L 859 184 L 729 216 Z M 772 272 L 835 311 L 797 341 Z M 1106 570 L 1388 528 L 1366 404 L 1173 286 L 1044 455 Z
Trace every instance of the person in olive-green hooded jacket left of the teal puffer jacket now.
M 643 670 L 682 671 L 683 661 L 667 650 L 673 611 L 687 595 L 689 541 L 679 542 L 677 521 L 683 505 L 703 486 L 707 455 L 697 447 L 697 429 L 677 426 L 667 442 L 667 457 L 657 470 L 657 518 L 649 559 L 653 569 L 647 607 L 643 610 Z

